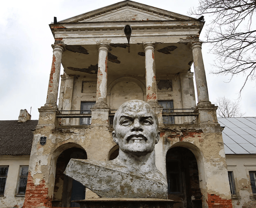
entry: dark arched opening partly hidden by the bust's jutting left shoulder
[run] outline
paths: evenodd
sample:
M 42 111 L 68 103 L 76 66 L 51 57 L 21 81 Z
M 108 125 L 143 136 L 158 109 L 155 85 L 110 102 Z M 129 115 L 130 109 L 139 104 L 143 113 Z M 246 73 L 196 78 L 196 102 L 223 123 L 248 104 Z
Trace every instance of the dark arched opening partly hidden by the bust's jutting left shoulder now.
M 80 207 L 78 203 L 72 201 L 85 199 L 85 186 L 63 173 L 71 158 L 87 159 L 86 151 L 78 147 L 72 147 L 64 150 L 58 156 L 52 206 Z

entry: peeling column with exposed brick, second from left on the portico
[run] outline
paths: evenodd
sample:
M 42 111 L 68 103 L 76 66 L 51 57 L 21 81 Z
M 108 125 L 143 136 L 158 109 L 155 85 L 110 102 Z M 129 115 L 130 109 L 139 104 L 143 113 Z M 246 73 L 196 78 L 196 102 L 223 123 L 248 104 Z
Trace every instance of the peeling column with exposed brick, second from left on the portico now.
M 98 102 L 106 103 L 107 97 L 107 68 L 108 68 L 108 44 L 100 44 L 99 50 L 99 61 L 98 61 L 98 75 L 97 75 L 97 94 L 96 104 Z M 107 105 L 107 104 L 106 104 Z

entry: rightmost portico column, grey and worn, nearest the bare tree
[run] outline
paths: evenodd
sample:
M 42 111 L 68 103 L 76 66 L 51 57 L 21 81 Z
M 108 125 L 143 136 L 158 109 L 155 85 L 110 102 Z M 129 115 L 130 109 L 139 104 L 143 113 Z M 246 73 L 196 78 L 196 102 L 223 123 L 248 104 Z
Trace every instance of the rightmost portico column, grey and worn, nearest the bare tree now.
M 202 56 L 202 42 L 191 43 L 193 62 L 195 68 L 195 82 L 198 103 L 209 102 L 208 88 L 205 76 L 205 67 Z

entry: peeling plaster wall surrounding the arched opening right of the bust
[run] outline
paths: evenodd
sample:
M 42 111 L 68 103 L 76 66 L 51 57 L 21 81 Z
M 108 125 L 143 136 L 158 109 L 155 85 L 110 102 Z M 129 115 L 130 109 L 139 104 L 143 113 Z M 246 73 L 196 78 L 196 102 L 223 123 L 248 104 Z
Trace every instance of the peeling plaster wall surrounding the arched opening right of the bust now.
M 195 128 L 187 125 L 169 129 L 162 127 L 160 132 L 163 155 L 175 146 L 186 147 L 194 153 L 198 163 L 203 206 L 208 204 L 208 194 L 215 194 L 223 200 L 230 200 L 221 131 L 211 133 L 203 131 L 199 126 Z M 163 167 L 160 170 L 162 171 Z M 216 183 L 216 177 L 221 183 Z

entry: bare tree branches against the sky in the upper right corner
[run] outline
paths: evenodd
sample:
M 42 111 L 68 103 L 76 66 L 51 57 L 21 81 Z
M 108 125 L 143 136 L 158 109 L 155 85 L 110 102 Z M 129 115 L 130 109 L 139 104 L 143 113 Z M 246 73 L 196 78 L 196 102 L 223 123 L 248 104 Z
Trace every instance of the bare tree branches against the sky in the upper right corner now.
M 200 0 L 190 14 L 209 14 L 206 42 L 217 55 L 214 74 L 243 74 L 240 93 L 248 80 L 256 79 L 256 1 Z

